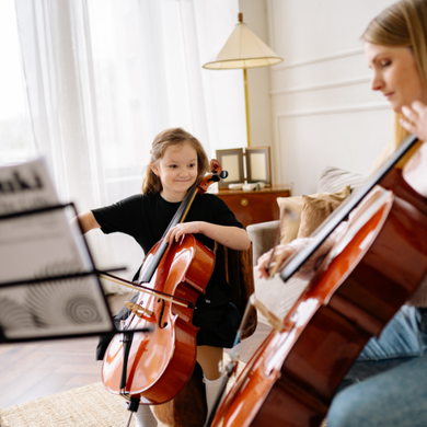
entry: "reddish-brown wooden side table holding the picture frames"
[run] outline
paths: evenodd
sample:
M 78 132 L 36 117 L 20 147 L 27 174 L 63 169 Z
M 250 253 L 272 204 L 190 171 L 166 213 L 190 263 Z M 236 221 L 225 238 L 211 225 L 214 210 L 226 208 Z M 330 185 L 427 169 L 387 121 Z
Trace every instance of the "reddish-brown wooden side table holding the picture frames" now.
M 235 218 L 243 227 L 251 223 L 273 221 L 279 219 L 277 197 L 290 197 L 291 189 L 287 185 L 273 185 L 264 189 L 243 192 L 242 189 L 219 189 L 214 192 L 226 201 Z

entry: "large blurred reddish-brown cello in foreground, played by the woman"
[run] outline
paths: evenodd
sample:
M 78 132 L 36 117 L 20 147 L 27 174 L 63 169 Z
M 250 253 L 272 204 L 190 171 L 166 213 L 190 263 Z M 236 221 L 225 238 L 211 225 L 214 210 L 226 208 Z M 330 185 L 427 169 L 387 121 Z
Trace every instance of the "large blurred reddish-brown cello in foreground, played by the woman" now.
M 347 232 L 257 348 L 208 426 L 321 425 L 366 343 L 379 336 L 427 274 L 427 198 L 402 173 L 419 147 L 414 136 L 407 138 L 288 261 L 284 280 L 353 212 Z

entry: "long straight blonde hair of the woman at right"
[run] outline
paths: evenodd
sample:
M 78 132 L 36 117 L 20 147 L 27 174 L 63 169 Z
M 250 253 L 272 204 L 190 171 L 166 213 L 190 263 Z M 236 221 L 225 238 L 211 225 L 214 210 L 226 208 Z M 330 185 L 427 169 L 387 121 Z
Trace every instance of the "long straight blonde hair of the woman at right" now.
M 427 88 L 427 0 L 402 0 L 374 18 L 361 36 L 383 46 L 411 47 L 419 76 Z M 394 149 L 408 136 L 394 113 Z

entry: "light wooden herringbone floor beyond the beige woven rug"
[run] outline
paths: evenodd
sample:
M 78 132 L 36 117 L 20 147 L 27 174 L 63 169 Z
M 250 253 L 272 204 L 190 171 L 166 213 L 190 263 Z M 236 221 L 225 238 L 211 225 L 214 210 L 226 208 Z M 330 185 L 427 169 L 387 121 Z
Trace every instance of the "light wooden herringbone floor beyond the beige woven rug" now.
M 112 312 L 123 300 L 108 299 Z M 269 331 L 258 323 L 254 335 L 236 347 L 240 360 L 246 362 Z M 96 344 L 97 337 L 0 345 L 0 408 L 101 381 Z

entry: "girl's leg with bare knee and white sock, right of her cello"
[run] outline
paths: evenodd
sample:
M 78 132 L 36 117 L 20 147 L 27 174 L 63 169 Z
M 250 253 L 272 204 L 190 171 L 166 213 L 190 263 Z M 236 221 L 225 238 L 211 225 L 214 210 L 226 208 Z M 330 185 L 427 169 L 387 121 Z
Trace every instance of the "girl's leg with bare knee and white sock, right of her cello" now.
M 197 347 L 197 361 L 204 371 L 208 414 L 215 404 L 222 383 L 221 372 L 219 370 L 220 363 L 222 362 L 222 348 L 219 347 Z

